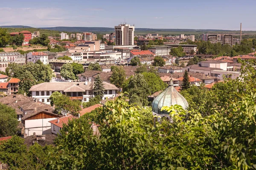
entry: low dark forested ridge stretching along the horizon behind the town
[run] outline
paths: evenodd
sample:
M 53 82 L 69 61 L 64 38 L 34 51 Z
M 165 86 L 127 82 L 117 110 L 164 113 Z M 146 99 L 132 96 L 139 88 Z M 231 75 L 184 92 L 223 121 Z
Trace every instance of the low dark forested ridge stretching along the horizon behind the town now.
M 0 26 L 2 28 L 33 28 L 30 26 Z M 105 32 L 114 31 L 114 28 L 108 27 L 44 27 L 39 29 L 47 29 L 54 31 L 68 32 Z M 135 28 L 135 31 L 173 31 L 173 32 L 207 32 L 207 31 L 230 31 L 221 29 L 161 29 L 161 28 Z

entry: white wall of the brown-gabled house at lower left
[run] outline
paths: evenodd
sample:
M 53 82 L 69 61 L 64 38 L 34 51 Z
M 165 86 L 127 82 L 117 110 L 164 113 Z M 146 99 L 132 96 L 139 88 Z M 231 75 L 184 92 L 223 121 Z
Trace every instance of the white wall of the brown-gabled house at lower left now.
M 25 120 L 25 133 L 27 136 L 52 134 L 49 121 L 56 118 Z

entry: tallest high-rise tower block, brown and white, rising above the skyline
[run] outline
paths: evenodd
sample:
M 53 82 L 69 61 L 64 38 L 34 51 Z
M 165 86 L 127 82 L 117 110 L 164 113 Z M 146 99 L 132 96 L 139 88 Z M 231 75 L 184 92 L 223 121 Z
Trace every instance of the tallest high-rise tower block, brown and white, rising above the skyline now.
M 115 26 L 116 45 L 134 45 L 134 26 L 119 24 Z

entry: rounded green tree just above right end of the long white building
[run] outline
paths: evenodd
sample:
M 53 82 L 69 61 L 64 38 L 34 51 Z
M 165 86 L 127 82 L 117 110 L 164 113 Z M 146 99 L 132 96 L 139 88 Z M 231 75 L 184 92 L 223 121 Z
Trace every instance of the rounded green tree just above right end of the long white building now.
M 109 80 L 113 85 L 120 89 L 122 84 L 125 82 L 125 70 L 121 66 L 114 66 L 112 72 L 113 73 Z

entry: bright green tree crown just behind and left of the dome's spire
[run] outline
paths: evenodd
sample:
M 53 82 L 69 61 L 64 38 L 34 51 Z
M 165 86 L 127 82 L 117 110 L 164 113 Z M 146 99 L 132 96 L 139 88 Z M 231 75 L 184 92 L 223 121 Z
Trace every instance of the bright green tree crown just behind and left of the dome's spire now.
M 144 76 L 145 81 L 148 83 L 149 93 L 153 94 L 154 92 L 164 90 L 167 87 L 167 84 L 163 82 L 162 79 L 160 79 L 159 76 L 157 76 L 154 73 L 142 73 Z

